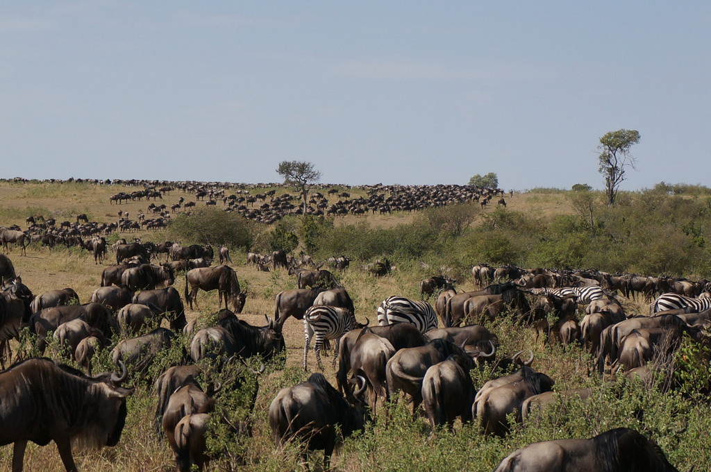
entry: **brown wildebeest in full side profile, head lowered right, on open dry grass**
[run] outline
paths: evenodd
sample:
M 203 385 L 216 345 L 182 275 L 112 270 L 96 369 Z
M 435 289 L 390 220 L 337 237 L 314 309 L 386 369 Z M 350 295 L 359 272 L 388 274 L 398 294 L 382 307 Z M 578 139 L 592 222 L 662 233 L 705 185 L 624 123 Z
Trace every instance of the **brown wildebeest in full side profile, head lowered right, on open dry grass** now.
M 188 290 L 189 288 L 189 290 Z M 236 313 L 242 313 L 242 308 L 245 306 L 247 294 L 240 291 L 240 281 L 237 280 L 237 274 L 230 266 L 219 265 L 216 267 L 198 267 L 191 269 L 185 274 L 185 299 L 190 304 L 190 309 L 198 306 L 198 289 L 218 291 L 218 309 L 222 306 L 222 301 L 225 299 L 225 308 L 229 308 Z M 230 306 L 228 307 L 228 302 Z

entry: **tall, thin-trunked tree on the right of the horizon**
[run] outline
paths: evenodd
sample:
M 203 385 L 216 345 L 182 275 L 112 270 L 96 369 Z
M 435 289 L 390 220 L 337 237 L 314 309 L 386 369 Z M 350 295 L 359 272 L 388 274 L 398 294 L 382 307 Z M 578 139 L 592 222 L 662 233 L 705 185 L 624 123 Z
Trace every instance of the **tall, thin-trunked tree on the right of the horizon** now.
M 634 166 L 636 159 L 629 154 L 629 149 L 633 144 L 639 142 L 639 138 L 639 132 L 636 129 L 618 129 L 600 138 L 600 144 L 597 146 L 600 151 L 598 170 L 605 177 L 608 208 L 614 206 L 617 190 L 620 184 L 626 180 L 626 168 L 631 167 L 636 170 Z

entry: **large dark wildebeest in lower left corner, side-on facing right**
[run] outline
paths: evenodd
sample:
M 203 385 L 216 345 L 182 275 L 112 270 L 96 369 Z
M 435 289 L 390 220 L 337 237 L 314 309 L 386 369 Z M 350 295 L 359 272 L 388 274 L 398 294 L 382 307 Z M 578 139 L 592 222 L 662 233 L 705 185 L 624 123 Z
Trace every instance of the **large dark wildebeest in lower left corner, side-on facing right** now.
M 14 443 L 13 472 L 22 471 L 27 441 L 40 446 L 54 441 L 68 472 L 77 471 L 73 441 L 118 444 L 132 392 L 49 359 L 23 360 L 0 372 L 0 444 Z

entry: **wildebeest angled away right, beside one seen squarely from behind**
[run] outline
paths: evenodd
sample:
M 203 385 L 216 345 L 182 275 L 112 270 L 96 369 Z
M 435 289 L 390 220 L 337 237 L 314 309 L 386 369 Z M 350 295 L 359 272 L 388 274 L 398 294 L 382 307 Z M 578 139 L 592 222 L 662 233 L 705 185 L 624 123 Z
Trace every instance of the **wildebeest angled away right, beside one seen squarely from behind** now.
M 472 413 L 476 412 L 484 434 L 503 437 L 509 427 L 506 416 L 513 413 L 516 421 L 520 422 L 524 400 L 542 392 L 550 392 L 554 383 L 547 375 L 535 372 L 521 380 L 494 387 L 475 400 Z

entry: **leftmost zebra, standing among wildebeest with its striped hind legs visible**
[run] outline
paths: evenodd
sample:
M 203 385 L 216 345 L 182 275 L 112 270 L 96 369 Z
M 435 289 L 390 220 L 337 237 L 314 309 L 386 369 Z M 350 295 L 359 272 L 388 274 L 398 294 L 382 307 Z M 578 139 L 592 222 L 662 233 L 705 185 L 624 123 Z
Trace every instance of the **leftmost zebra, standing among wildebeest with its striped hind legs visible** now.
M 306 370 L 306 356 L 309 353 L 309 343 L 315 338 L 314 350 L 316 351 L 316 363 L 319 369 L 321 365 L 321 346 L 327 339 L 336 340 L 336 352 L 333 353 L 333 368 L 336 368 L 338 358 L 338 340 L 355 326 L 355 316 L 351 311 L 337 306 L 311 306 L 304 313 L 304 370 Z

